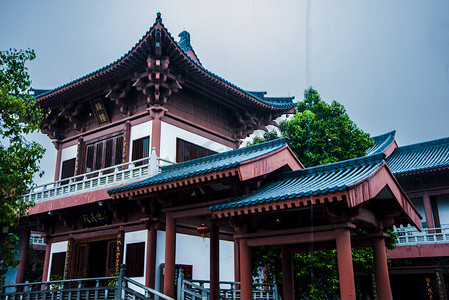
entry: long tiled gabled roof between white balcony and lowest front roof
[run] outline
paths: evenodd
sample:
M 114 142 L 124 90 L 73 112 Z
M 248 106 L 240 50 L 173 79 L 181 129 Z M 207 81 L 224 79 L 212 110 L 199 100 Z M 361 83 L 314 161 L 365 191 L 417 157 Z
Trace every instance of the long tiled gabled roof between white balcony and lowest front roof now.
M 287 146 L 287 138 L 281 138 L 274 141 L 261 143 L 254 146 L 243 147 L 237 150 L 231 150 L 223 153 L 218 153 L 183 163 L 178 163 L 170 166 L 163 166 L 161 173 L 149 177 L 148 179 L 128 184 L 125 186 L 117 187 L 108 190 L 109 194 L 121 194 L 121 196 L 127 196 L 127 191 L 135 191 L 147 189 L 151 186 L 157 186 L 161 184 L 168 184 L 170 187 L 176 186 L 173 182 L 183 181 L 181 185 L 186 184 L 186 180 L 194 181 L 192 177 L 201 176 L 200 181 L 208 180 L 208 178 L 216 178 L 223 176 L 233 176 L 239 174 L 241 179 L 245 180 L 248 173 L 242 174 L 241 167 L 249 162 L 262 159 L 265 156 L 274 155 L 281 150 L 287 150 L 291 155 L 289 157 L 282 156 L 282 164 L 286 164 L 290 159 L 294 159 L 294 165 L 302 168 L 301 163 L 296 159 L 294 154 L 289 150 Z M 282 153 L 283 155 L 284 153 Z M 271 161 L 271 167 L 276 168 L 276 163 Z M 211 175 L 213 173 L 213 175 Z M 113 195 L 115 196 L 115 195 Z

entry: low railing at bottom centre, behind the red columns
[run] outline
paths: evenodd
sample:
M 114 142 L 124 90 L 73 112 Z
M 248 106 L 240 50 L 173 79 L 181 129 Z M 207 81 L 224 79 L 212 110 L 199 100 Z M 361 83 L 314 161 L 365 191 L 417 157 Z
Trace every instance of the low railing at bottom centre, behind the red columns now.
M 210 281 L 184 279 L 182 269 L 177 282 L 177 299 L 182 300 L 209 300 Z M 240 299 L 240 282 L 220 281 L 220 299 Z M 254 300 L 278 300 L 278 290 L 275 283 L 253 283 Z

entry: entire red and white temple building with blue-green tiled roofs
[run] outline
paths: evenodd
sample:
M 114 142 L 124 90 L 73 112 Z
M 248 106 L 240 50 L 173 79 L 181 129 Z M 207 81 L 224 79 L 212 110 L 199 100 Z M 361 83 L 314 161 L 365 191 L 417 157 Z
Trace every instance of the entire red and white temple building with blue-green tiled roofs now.
M 240 147 L 294 113 L 293 97 L 226 81 L 202 66 L 188 32 L 179 38 L 158 14 L 121 58 L 37 96 L 51 110 L 41 129 L 57 149 L 56 169 L 54 182 L 24 195 L 36 205 L 21 229 L 22 250 L 31 228 L 44 234 L 43 282 L 72 280 L 58 285 L 72 299 L 76 280 L 81 293 L 82 279 L 125 272 L 136 299 L 199 290 L 188 299 L 278 299 L 275 286 L 256 286 L 251 264 L 253 248 L 278 245 L 282 299 L 294 299 L 293 254 L 329 249 L 341 299 L 355 299 L 351 249 L 372 247 L 378 299 L 406 299 L 410 281 L 443 293 L 447 264 L 435 261 L 449 256 L 449 139 L 398 147 L 391 132 L 373 138 L 364 157 L 313 168 L 285 138 Z M 389 270 L 384 239 L 393 226 L 400 236 Z M 19 265 L 16 283 L 24 272 Z M 188 291 L 193 280 L 198 289 Z M 115 288 L 129 292 L 121 282 Z M 224 282 L 233 284 L 225 291 Z M 108 294 L 110 285 L 101 294 L 99 284 L 97 298 L 122 295 Z M 41 286 L 51 293 L 55 284 Z

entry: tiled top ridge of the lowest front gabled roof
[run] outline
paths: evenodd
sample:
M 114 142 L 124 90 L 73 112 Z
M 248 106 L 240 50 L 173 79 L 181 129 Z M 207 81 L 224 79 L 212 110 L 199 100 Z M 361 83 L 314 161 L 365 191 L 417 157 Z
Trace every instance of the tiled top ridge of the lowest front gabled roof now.
M 331 164 L 320 165 L 320 166 L 305 168 L 305 169 L 296 170 L 296 171 L 287 171 L 287 172 L 283 172 L 283 173 L 279 174 L 279 177 L 283 178 L 285 176 L 292 177 L 292 176 L 298 176 L 298 175 L 304 175 L 304 174 L 326 173 L 326 172 L 338 170 L 338 169 L 341 169 L 344 167 L 352 167 L 352 166 L 357 166 L 357 165 L 361 165 L 364 163 L 370 163 L 370 162 L 377 163 L 377 162 L 383 161 L 384 159 L 385 159 L 385 154 L 383 152 L 375 153 L 375 154 L 362 156 L 362 157 L 358 157 L 358 158 L 352 158 L 352 159 L 348 159 L 348 160 L 343 160 L 343 161 L 339 161 L 339 162 L 335 162 L 335 163 L 331 163 Z

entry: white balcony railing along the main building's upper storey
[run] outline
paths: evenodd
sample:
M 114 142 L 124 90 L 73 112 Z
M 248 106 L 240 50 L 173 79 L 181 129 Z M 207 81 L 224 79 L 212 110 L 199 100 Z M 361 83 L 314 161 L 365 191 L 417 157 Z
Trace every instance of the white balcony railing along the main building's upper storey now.
M 172 163 L 152 153 L 147 158 L 36 186 L 23 198 L 39 203 L 148 178 L 160 172 L 160 161 Z

